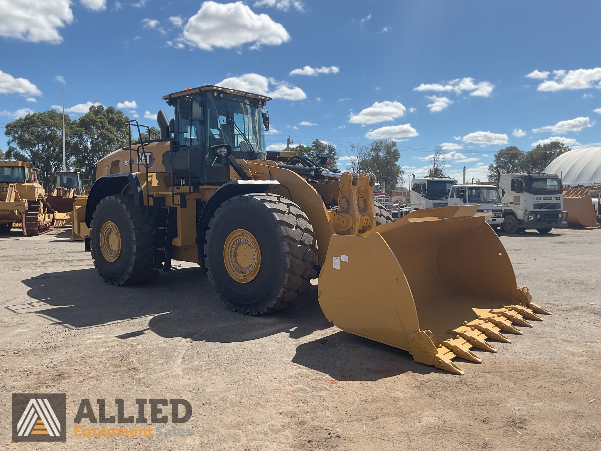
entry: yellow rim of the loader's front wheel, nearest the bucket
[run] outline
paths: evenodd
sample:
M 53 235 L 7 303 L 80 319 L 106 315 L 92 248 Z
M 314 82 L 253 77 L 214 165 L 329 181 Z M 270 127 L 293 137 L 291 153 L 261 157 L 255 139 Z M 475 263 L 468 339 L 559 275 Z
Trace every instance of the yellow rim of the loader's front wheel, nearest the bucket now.
M 242 283 L 257 277 L 261 269 L 261 249 L 248 230 L 237 229 L 230 233 L 224 245 L 224 263 L 228 274 Z

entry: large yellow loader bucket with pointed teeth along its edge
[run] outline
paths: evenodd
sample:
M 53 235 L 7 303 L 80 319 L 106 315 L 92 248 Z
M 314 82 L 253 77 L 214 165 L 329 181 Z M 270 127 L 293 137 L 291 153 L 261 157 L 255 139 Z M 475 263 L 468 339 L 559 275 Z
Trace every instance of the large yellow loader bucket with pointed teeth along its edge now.
M 359 236 L 333 235 L 319 275 L 326 318 L 463 374 L 452 359 L 497 350 L 549 314 L 518 288 L 505 248 L 478 206 L 418 210 Z M 537 314 L 538 313 L 538 314 Z

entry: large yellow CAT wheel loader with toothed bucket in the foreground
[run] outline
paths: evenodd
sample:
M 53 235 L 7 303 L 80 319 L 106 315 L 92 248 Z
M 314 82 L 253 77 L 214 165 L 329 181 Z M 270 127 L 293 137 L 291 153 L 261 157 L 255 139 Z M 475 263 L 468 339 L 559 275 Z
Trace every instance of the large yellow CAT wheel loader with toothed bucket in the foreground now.
M 454 357 L 480 361 L 472 348 L 495 352 L 489 339 L 509 342 L 505 333 L 548 313 L 517 287 L 478 206 L 391 222 L 373 201 L 373 174 L 266 152 L 269 97 L 202 86 L 163 99 L 175 117 L 159 111 L 160 139 L 98 161 L 85 218 L 75 218 L 91 229 L 86 248 L 108 283 L 195 262 L 228 308 L 257 315 L 295 302 L 319 276 L 329 321 L 457 374 Z M 457 271 L 457 260 L 473 270 Z

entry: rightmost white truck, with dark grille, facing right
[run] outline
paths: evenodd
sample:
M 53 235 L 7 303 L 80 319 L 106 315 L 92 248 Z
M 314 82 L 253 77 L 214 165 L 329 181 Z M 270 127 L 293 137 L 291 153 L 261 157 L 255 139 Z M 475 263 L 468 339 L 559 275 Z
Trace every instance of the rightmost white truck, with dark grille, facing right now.
M 567 227 L 561 179 L 557 174 L 501 174 L 499 191 L 503 232 L 536 229 L 539 233 L 549 233 L 554 227 Z

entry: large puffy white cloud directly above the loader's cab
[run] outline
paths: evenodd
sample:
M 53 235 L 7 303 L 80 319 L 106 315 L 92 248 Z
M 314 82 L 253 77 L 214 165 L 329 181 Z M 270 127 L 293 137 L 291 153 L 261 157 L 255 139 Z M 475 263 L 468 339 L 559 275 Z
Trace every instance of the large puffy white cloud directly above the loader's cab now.
M 190 17 L 182 38 L 191 46 L 212 51 L 213 47 L 231 49 L 246 43 L 254 43 L 251 49 L 279 45 L 290 40 L 290 35 L 267 14 L 255 14 L 242 2 L 207 1 Z

